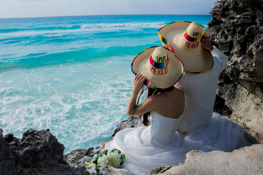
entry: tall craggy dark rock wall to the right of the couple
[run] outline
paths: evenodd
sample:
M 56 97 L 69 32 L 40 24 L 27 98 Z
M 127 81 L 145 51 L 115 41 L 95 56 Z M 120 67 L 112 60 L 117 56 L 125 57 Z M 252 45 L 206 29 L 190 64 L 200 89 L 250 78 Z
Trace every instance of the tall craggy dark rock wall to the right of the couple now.
M 221 0 L 210 14 L 208 37 L 229 57 L 217 89 L 225 106 L 215 104 L 215 111 L 244 126 L 251 143 L 263 144 L 263 1 Z

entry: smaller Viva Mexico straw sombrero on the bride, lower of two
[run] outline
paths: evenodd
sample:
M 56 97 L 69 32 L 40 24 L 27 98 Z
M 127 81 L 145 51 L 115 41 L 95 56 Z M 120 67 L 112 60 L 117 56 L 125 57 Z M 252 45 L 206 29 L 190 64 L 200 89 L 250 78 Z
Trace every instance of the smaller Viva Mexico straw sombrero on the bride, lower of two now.
M 173 86 L 183 75 L 183 63 L 169 50 L 161 46 L 145 49 L 131 63 L 131 71 L 146 76 L 144 84 L 152 89 Z

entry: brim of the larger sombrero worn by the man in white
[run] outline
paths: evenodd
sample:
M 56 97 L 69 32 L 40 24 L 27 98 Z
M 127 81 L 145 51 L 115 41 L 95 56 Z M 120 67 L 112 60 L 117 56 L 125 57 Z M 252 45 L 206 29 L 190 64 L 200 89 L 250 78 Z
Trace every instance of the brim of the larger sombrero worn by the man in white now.
M 179 44 L 180 39 L 185 39 L 183 36 L 184 30 L 192 22 L 176 21 L 167 24 L 158 30 L 159 38 L 163 45 L 170 45 L 173 48 L 174 54 L 184 63 L 185 72 L 201 73 L 210 70 L 213 67 L 213 56 L 211 53 L 201 46 L 195 50 L 184 50 Z M 201 34 L 206 36 L 205 27 L 202 26 Z

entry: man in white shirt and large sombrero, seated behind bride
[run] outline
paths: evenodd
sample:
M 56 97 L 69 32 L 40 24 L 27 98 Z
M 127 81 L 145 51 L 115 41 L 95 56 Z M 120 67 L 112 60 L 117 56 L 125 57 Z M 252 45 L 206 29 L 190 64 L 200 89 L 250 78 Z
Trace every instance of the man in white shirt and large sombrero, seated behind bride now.
M 211 45 L 205 28 L 197 23 L 170 23 L 158 33 L 163 45 L 174 51 L 185 69 L 174 85 L 185 93 L 185 110 L 177 131 L 199 132 L 211 122 L 218 78 L 228 58 Z

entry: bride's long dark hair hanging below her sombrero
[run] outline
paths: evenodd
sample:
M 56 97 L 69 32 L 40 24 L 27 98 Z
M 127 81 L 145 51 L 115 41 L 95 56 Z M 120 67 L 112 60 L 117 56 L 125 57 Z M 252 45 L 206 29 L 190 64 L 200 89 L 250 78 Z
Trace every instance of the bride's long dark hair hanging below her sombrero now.
M 141 89 L 141 92 L 140 92 L 140 95 L 139 95 L 139 98 L 137 100 L 137 104 L 136 104 L 136 107 L 135 109 L 137 108 L 138 106 L 138 103 L 139 103 L 139 100 L 140 100 L 140 97 L 141 95 L 143 94 L 143 92 L 145 91 L 145 94 L 143 96 L 143 98 L 145 97 L 145 95 L 148 97 L 150 97 L 151 95 L 154 94 L 158 94 L 160 92 L 169 92 L 169 91 L 172 91 L 174 89 L 174 86 L 170 87 L 170 88 L 167 88 L 167 89 L 151 89 L 145 85 L 143 85 L 143 88 Z M 156 90 L 156 91 L 155 91 Z M 155 92 L 154 92 L 155 91 Z M 135 111 L 135 110 L 134 110 Z M 141 117 L 142 115 L 139 115 L 139 118 L 140 118 L 140 122 L 141 124 L 143 124 L 144 126 L 149 126 L 150 125 L 150 122 L 148 120 L 148 117 L 150 116 L 150 111 L 149 112 L 146 112 L 145 114 L 143 114 L 143 121 L 141 121 Z

